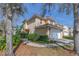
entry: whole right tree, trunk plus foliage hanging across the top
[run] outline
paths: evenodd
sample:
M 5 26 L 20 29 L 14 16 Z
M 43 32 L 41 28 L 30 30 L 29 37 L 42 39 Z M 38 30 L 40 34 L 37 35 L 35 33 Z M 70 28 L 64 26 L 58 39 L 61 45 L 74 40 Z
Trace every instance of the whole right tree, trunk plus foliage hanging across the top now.
M 73 35 L 74 35 L 74 50 L 75 52 L 79 55 L 79 16 L 78 16 L 78 6 L 79 4 L 78 3 L 75 3 L 75 4 L 58 4 L 59 5 L 59 12 L 66 12 L 67 14 L 70 13 L 71 9 L 73 10 L 73 14 L 74 14 L 74 32 L 73 32 Z M 51 11 L 51 8 L 52 8 L 52 4 L 48 3 L 48 4 L 44 4 L 43 5 L 43 16 L 45 16 L 46 14 L 46 6 L 49 6 L 49 12 Z M 55 6 L 55 5 L 54 5 Z M 66 11 L 64 11 L 66 10 Z

